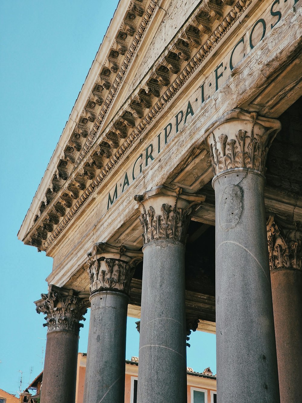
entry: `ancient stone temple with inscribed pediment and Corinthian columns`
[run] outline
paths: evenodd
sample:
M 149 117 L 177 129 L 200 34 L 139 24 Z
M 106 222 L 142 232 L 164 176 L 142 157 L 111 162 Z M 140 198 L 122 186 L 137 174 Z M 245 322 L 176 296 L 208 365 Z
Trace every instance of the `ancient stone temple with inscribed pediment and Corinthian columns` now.
M 140 403 L 186 401 L 197 326 L 217 402 L 302 401 L 300 3 L 120 0 L 19 231 L 54 259 L 41 403 L 89 306 L 85 403 L 124 399 L 127 314 Z

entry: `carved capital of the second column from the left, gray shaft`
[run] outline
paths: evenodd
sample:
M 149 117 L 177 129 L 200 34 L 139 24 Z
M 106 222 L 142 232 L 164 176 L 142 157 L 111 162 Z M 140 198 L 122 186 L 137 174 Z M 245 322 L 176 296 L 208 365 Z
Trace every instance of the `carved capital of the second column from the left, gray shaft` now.
M 99 242 L 87 256 L 91 294 L 112 290 L 129 295 L 135 268 L 143 260 L 142 252 Z

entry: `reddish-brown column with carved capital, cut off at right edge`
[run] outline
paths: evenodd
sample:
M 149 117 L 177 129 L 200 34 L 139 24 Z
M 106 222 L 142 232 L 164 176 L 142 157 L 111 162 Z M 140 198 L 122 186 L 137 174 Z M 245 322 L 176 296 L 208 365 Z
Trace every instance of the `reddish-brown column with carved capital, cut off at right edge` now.
M 267 221 L 281 403 L 302 401 L 301 230 L 274 216 Z

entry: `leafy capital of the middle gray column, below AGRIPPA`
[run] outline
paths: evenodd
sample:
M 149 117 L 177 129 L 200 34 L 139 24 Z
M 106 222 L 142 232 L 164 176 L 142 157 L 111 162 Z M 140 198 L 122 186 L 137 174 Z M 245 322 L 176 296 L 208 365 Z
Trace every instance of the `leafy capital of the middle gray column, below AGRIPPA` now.
M 144 244 L 154 239 L 186 243 L 191 217 L 199 210 L 205 196 L 182 193 L 179 187 L 172 190 L 159 186 L 134 199 L 142 211 L 139 220 Z

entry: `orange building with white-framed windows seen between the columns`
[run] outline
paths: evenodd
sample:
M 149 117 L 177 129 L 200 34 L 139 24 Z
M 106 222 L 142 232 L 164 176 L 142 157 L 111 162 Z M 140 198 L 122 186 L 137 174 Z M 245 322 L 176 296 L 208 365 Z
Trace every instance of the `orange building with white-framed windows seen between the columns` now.
M 86 360 L 86 353 L 78 354 L 75 403 L 83 403 Z M 137 402 L 138 369 L 137 357 L 132 357 L 131 361 L 126 360 L 125 403 Z M 216 403 L 216 377 L 210 368 L 206 368 L 202 373 L 187 368 L 187 396 L 188 403 Z

